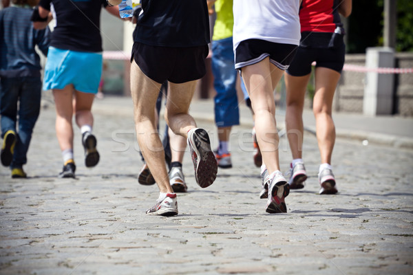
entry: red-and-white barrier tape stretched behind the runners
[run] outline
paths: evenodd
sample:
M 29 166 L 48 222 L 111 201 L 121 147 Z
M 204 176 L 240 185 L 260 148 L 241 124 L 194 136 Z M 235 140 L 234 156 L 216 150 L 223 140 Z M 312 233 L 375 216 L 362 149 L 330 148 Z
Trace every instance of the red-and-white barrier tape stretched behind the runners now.
M 129 61 L 131 59 L 131 54 L 127 54 L 123 51 L 106 51 L 103 52 L 103 59 Z M 313 66 L 315 66 L 315 62 L 313 62 Z M 343 70 L 361 73 L 375 72 L 379 74 L 413 74 L 413 68 L 368 68 L 352 64 L 344 64 Z

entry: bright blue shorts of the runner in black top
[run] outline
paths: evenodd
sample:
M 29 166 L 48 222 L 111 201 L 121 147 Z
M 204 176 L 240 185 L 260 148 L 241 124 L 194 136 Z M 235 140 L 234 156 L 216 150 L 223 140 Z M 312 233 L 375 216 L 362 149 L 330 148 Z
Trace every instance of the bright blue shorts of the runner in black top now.
M 49 47 L 43 90 L 63 89 L 69 84 L 77 91 L 97 94 L 102 76 L 101 53 L 74 52 Z

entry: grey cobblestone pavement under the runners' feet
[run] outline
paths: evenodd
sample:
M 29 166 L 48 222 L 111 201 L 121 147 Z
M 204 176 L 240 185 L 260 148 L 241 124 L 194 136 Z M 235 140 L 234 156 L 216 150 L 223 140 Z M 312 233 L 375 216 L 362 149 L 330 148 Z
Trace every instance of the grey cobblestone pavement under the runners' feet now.
M 205 104 L 195 102 L 191 112 Z M 306 132 L 306 187 L 290 192 L 288 213 L 267 214 L 242 108 L 242 125 L 231 135 L 234 167 L 202 189 L 186 153 L 189 192 L 178 195 L 180 213 L 153 217 L 145 210 L 158 188 L 138 184 L 131 110 L 130 98 L 96 100 L 100 163 L 85 168 L 75 129 L 76 179 L 58 179 L 54 106 L 43 104 L 29 178 L 11 179 L 0 168 L 0 274 L 413 274 L 413 150 L 394 146 L 387 133 L 388 142 L 368 145 L 366 137 L 339 135 L 332 159 L 339 194 L 321 196 L 317 140 Z M 212 114 L 196 117 L 217 146 Z M 409 134 L 403 138 L 408 144 Z M 279 148 L 286 172 L 285 137 Z

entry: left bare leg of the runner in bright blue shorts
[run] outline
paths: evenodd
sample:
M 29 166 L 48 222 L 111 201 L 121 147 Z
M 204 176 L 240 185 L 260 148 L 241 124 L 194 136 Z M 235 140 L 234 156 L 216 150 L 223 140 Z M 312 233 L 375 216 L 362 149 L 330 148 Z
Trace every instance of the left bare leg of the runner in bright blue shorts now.
M 73 85 L 67 85 L 64 89 L 53 89 L 56 105 L 56 136 L 61 151 L 73 149 L 73 96 Z

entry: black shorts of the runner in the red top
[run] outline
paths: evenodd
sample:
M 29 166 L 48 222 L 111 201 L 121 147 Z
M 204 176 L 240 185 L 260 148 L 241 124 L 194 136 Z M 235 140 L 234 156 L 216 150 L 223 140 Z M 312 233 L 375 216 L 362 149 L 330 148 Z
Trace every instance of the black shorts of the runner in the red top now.
M 311 64 L 315 67 L 333 69 L 341 74 L 344 65 L 346 45 L 342 43 L 334 48 L 298 47 L 297 54 L 287 73 L 291 76 L 306 76 L 311 73 Z

